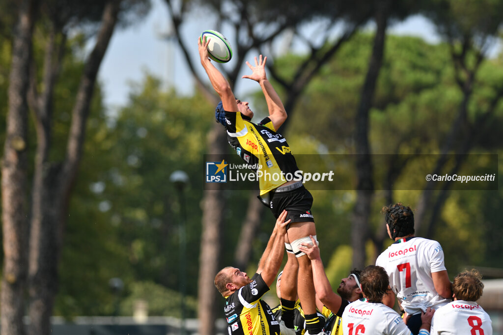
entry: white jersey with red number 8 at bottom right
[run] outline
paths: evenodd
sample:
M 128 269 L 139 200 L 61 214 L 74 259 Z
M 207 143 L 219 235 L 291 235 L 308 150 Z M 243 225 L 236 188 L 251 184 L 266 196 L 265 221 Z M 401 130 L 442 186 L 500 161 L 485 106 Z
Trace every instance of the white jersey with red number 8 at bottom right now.
M 432 335 L 492 335 L 489 315 L 474 301 L 455 300 L 433 314 Z

